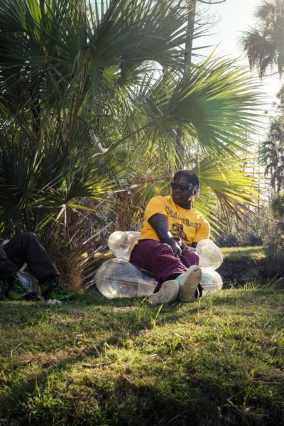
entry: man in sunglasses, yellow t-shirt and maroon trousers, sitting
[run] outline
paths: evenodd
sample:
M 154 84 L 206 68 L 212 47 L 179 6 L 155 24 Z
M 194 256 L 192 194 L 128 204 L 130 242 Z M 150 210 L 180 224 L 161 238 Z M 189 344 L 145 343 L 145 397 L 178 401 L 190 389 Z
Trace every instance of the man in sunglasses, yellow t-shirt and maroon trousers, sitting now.
M 192 302 L 202 295 L 201 269 L 195 253 L 198 241 L 209 238 L 210 226 L 192 207 L 200 192 L 197 175 L 179 170 L 172 182 L 172 195 L 153 197 L 146 207 L 141 238 L 131 251 L 130 262 L 149 271 L 158 281 L 152 303 L 176 297 Z

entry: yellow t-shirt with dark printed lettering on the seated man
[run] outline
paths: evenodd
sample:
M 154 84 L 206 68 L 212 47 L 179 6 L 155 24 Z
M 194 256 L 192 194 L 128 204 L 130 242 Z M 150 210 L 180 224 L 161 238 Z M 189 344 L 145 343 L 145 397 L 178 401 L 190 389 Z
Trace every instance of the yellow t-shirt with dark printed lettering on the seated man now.
M 141 229 L 141 240 L 154 239 L 155 241 L 160 241 L 155 230 L 148 222 L 148 219 L 157 213 L 164 214 L 167 217 L 171 234 L 179 236 L 187 245 L 209 238 L 210 225 L 202 214 L 193 208 L 190 210 L 183 209 L 173 202 L 173 198 L 170 195 L 168 197 L 161 197 L 159 195 L 158 197 L 151 198 L 148 202 Z

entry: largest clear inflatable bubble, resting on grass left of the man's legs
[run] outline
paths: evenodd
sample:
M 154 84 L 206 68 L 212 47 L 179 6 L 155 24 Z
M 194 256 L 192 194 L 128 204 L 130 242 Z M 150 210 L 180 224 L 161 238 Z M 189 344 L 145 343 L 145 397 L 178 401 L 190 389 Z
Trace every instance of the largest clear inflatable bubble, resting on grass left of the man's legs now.
M 109 299 L 114 297 L 143 297 L 153 294 L 157 281 L 141 273 L 121 258 L 104 262 L 97 269 L 95 280 L 98 290 Z

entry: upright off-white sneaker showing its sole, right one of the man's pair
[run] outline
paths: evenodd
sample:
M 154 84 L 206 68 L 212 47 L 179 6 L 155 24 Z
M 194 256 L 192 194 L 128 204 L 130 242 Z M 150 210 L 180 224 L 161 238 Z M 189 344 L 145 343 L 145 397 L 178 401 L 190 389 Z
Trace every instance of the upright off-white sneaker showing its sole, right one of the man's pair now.
M 199 299 L 200 293 L 197 289 L 197 285 L 201 281 L 201 268 L 197 265 L 192 265 L 184 273 L 180 274 L 175 280 L 178 281 L 180 290 L 178 292 L 178 298 L 181 302 L 194 302 Z M 197 295 L 195 295 L 197 291 Z

